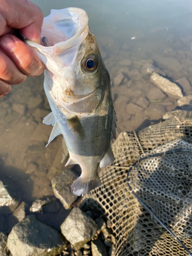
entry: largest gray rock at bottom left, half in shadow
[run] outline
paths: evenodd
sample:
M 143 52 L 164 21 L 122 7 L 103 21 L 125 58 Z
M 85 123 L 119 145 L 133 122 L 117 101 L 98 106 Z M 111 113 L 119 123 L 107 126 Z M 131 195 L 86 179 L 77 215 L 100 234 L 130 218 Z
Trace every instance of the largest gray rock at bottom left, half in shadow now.
M 34 215 L 16 224 L 7 240 L 13 256 L 54 256 L 65 249 L 67 241 L 52 227 Z

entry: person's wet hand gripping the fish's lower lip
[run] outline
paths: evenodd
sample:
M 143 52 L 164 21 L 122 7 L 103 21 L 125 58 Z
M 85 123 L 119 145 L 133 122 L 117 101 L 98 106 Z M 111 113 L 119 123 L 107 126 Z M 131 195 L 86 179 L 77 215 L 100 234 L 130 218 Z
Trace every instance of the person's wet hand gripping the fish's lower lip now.
M 0 0 L 0 97 L 10 92 L 10 84 L 45 70 L 33 49 L 13 35 L 18 29 L 23 37 L 40 44 L 43 18 L 40 8 L 28 0 Z

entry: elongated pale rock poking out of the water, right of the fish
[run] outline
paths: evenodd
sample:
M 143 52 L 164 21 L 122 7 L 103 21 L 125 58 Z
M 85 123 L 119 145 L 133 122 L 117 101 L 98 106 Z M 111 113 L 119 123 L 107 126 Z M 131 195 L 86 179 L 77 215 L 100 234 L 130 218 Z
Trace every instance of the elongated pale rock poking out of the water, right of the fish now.
M 181 89 L 177 86 L 176 83 L 169 81 L 167 78 L 153 73 L 151 76 L 152 82 L 159 87 L 163 92 L 171 95 L 175 95 L 178 97 L 183 97 Z

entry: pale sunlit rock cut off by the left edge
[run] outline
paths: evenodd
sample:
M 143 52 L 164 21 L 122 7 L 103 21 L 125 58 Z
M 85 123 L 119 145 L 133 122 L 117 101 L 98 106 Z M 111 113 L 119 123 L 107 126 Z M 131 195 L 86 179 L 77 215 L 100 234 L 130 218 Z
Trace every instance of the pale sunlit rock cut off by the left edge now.
M 15 198 L 13 189 L 5 181 L 0 180 L 0 206 L 14 204 Z

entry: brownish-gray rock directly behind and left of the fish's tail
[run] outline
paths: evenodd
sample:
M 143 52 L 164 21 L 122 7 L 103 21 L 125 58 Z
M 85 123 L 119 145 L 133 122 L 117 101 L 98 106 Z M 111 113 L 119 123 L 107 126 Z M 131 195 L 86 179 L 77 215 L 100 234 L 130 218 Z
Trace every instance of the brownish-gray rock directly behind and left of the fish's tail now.
M 73 194 L 71 184 L 78 178 L 78 175 L 70 169 L 65 169 L 61 174 L 51 181 L 53 193 L 66 209 L 69 209 L 78 196 Z

